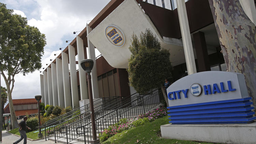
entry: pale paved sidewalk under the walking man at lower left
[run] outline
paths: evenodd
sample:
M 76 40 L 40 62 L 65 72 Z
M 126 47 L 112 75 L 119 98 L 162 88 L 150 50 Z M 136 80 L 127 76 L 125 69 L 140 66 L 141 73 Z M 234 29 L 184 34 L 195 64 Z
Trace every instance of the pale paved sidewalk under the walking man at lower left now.
M 2 131 L 2 142 L 0 142 L 0 144 L 12 144 L 13 142 L 17 141 L 20 137 L 16 136 L 16 135 L 12 135 L 9 133 L 6 133 L 6 131 Z M 30 141 L 27 140 L 27 144 L 55 144 L 54 141 L 45 141 L 44 140 L 38 140 L 38 141 Z M 23 140 L 21 142 L 19 142 L 19 144 L 23 144 Z M 56 143 L 56 144 L 60 144 L 60 143 Z

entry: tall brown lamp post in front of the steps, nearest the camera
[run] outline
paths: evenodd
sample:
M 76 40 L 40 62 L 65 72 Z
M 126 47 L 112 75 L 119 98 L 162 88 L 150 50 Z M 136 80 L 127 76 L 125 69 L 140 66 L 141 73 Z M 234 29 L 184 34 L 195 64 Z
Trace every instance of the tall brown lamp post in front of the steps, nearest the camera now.
M 85 72 L 87 72 L 87 82 L 88 82 L 88 94 L 89 94 L 89 102 L 90 102 L 90 111 L 91 111 L 91 126 L 93 127 L 93 143 L 98 143 L 96 135 L 96 124 L 95 124 L 95 115 L 94 115 L 94 106 L 93 106 L 93 92 L 91 88 L 91 70 L 93 69 L 93 60 L 92 59 L 84 59 L 81 61 L 81 67 Z

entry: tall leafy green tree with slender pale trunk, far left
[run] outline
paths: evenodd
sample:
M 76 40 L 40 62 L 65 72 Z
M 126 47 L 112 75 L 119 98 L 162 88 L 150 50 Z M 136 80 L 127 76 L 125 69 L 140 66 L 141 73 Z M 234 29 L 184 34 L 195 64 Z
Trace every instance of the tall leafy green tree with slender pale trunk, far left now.
M 45 45 L 45 35 L 38 28 L 27 25 L 27 18 L 13 14 L 13 10 L 0 3 L 1 74 L 6 84 L 13 128 L 18 127 L 12 102 L 14 76 L 39 70 Z

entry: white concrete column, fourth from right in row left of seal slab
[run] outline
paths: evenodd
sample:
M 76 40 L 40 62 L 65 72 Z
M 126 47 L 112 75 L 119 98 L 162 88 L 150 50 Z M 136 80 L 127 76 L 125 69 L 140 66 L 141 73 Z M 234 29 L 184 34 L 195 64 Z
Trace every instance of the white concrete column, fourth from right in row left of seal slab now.
M 63 75 L 63 88 L 64 88 L 64 102 L 65 107 L 72 107 L 71 92 L 70 92 L 70 81 L 69 81 L 69 61 L 68 54 L 61 52 L 62 58 L 62 75 Z

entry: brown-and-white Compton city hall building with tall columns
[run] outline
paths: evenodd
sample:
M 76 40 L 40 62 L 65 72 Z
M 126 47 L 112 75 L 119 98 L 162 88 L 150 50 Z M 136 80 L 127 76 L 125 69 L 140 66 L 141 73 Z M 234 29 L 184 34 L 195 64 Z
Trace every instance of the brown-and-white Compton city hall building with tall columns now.
M 111 0 L 40 75 L 42 102 L 77 108 L 79 101 L 88 99 L 86 73 L 80 66 L 83 59 L 94 60 L 94 99 L 135 93 L 126 71 L 131 55 L 128 47 L 132 33 L 140 35 L 147 28 L 171 54 L 169 81 L 175 82 L 190 71 L 226 71 L 208 0 L 177 2 Z M 240 2 L 253 21 L 255 1 Z M 95 48 L 100 56 L 95 56 Z

